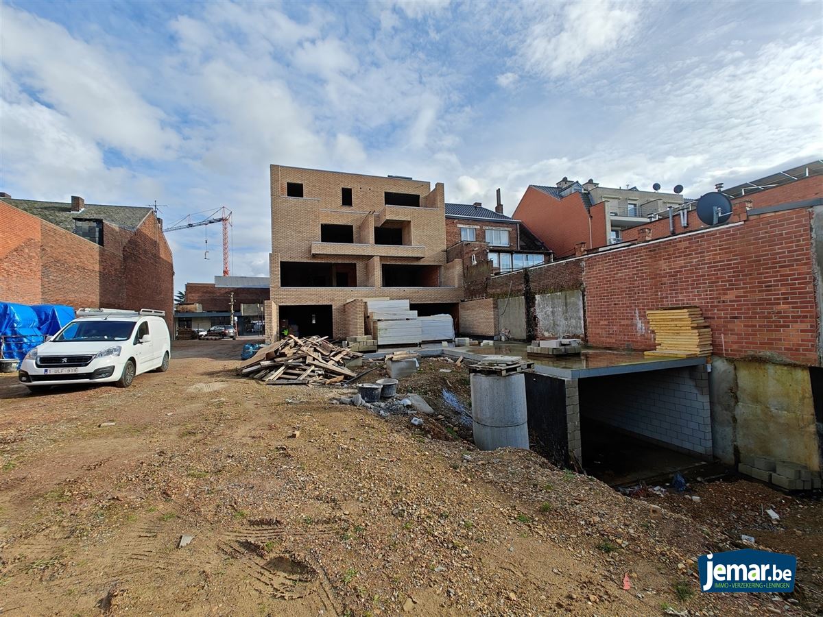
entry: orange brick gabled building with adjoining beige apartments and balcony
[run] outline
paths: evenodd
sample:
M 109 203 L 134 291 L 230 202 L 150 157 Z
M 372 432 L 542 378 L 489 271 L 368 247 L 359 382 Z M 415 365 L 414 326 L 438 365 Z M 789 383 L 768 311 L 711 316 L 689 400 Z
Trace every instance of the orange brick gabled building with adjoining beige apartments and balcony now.
M 574 247 L 600 248 L 621 242 L 623 230 L 648 223 L 681 206 L 677 193 L 641 191 L 637 187 L 601 187 L 589 179 L 579 183 L 564 178 L 556 186 L 530 184 L 523 193 L 514 218 L 554 251 L 556 257 L 574 254 Z

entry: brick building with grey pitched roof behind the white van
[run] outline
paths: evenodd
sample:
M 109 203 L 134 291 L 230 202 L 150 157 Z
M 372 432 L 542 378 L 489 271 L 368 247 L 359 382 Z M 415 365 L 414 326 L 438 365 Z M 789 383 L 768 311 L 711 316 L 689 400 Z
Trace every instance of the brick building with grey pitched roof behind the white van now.
M 172 326 L 174 267 L 150 207 L 0 194 L 0 300 L 159 308 Z

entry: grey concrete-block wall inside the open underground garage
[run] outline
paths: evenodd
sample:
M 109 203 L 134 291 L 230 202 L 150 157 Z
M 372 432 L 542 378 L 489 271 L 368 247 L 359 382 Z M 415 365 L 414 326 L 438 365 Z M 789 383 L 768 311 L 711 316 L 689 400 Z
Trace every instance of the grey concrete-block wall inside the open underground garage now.
M 678 450 L 712 456 L 705 367 L 578 381 L 581 415 Z

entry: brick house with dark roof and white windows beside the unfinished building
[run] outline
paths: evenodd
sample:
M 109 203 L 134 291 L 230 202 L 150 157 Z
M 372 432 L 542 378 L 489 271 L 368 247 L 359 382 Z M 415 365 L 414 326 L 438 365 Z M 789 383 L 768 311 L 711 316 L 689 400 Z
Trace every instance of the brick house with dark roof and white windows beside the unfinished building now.
M 505 216 L 500 203 L 495 210 L 480 202 L 447 203 L 446 245 L 452 251 L 458 243 L 467 244 L 469 250 L 461 253 L 473 257 L 473 262 L 490 261 L 492 271 L 551 261 L 551 251 L 521 221 Z

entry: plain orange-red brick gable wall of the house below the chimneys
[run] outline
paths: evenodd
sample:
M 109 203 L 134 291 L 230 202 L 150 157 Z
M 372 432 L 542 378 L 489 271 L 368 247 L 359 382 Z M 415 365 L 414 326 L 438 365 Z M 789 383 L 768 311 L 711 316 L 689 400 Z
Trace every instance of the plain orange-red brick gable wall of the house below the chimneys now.
M 554 251 L 556 258 L 574 255 L 574 244 L 579 242 L 591 246 L 588 213 L 580 193 L 571 193 L 560 200 L 529 187 L 513 217 L 522 220 L 532 234 Z M 592 231 L 594 233 L 594 226 Z

